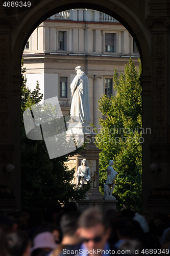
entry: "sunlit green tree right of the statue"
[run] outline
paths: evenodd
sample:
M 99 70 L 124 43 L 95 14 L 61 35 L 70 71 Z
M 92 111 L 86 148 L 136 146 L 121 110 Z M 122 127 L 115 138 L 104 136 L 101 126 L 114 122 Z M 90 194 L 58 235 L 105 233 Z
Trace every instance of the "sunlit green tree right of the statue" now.
M 139 70 L 130 61 L 125 66 L 124 74 L 113 76 L 115 97 L 106 95 L 99 101 L 99 110 L 106 116 L 100 118 L 101 133 L 96 135 L 96 145 L 100 153 L 100 190 L 106 182 L 106 168 L 110 159 L 114 160 L 114 169 L 118 173 L 115 180 L 114 196 L 118 208 L 123 206 L 141 209 L 142 175 L 142 127 L 141 127 L 141 86 Z

